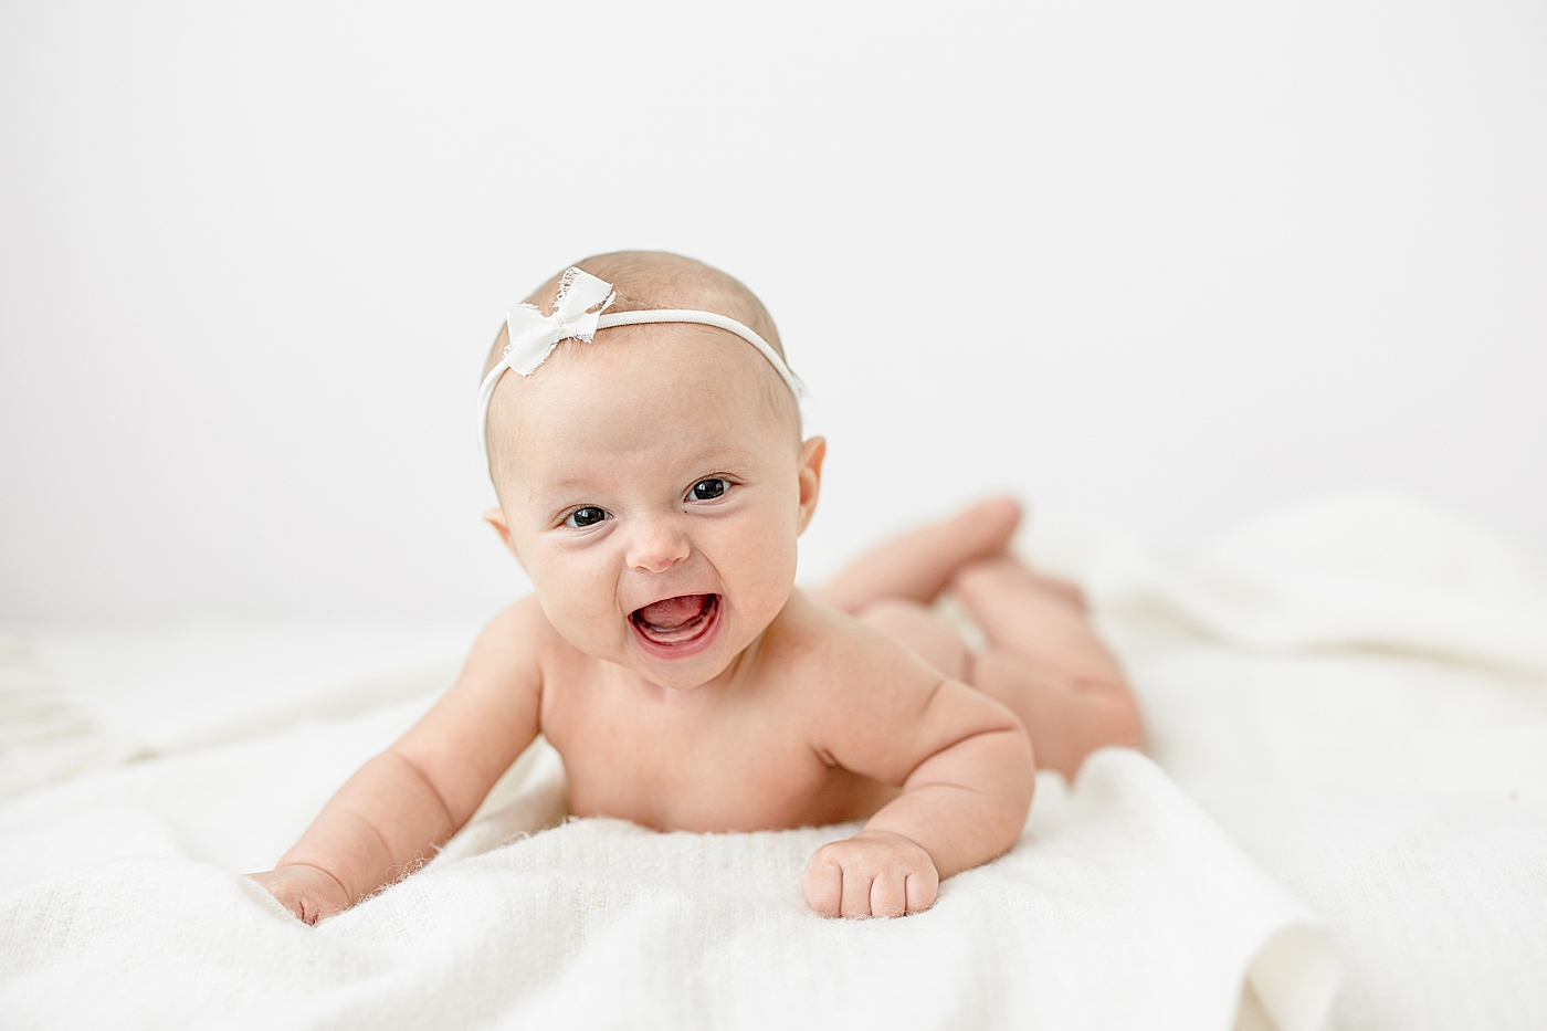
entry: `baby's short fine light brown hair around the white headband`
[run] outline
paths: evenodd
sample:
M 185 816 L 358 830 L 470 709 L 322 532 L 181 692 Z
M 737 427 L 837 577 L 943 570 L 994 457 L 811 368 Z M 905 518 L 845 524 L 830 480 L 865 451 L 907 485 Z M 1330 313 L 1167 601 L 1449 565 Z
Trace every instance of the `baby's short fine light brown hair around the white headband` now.
M 778 327 L 774 325 L 774 316 L 769 314 L 769 310 L 741 280 L 712 265 L 667 251 L 613 251 L 575 262 L 575 266 L 613 285 L 617 297 L 608 311 L 664 308 L 712 311 L 752 328 L 778 351 L 780 358 L 784 358 L 784 345 L 778 339 Z M 523 303 L 537 305 L 545 314 L 552 311 L 563 276 L 562 271 L 554 274 Z M 483 367 L 484 376 L 500 362 L 509 339 L 509 327 L 501 325 L 493 347 L 489 348 L 489 359 Z M 767 372 L 769 402 L 780 416 L 791 420 L 798 446 L 801 437 L 800 404 L 772 365 Z M 490 441 L 490 447 L 493 447 L 493 441 Z

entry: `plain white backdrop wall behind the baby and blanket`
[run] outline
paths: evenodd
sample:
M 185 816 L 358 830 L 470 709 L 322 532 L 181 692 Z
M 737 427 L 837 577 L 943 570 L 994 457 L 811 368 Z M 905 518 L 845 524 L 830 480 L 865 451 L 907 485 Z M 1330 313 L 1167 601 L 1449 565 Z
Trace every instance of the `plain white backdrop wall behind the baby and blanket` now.
M 1371 481 L 1547 546 L 1547 6 L 0 8 L 0 618 L 523 590 L 478 367 L 565 263 L 744 279 L 818 576 L 1009 488 L 1180 550 Z

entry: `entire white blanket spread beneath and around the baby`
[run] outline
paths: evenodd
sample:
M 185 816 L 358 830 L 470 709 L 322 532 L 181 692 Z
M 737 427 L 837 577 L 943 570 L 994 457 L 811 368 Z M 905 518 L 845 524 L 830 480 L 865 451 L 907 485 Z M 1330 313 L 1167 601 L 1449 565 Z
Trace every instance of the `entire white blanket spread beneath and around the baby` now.
M 1072 791 L 1043 776 L 1019 845 L 902 921 L 804 910 L 806 856 L 851 828 L 577 820 L 520 837 L 555 816 L 562 771 L 535 749 L 497 790 L 511 807 L 308 929 L 237 872 L 272 864 L 444 669 L 422 667 L 413 690 L 404 659 L 381 704 L 373 678 L 292 692 L 292 715 L 326 718 L 286 724 L 269 704 L 261 735 L 224 712 L 200 746 L 196 703 L 156 738 L 50 695 L 37 653 L 68 667 L 68 639 L 14 641 L 0 704 L 5 689 L 29 701 L 0 715 L 32 731 L 8 732 L 0 763 L 22 791 L 0 808 L 0 1012 L 6 1026 L 1309 1029 L 1337 983 L 1323 923 L 1344 971 L 1334 1026 L 1547 1025 L 1532 977 L 1547 968 L 1547 684 L 1530 633 L 1547 590 L 1528 560 L 1383 495 L 1264 526 L 1182 571 L 1088 534 L 1032 536 L 1097 601 L 1176 782 L 1122 751 Z M 1416 560 L 1436 543 L 1451 556 L 1437 571 Z M 1366 601 L 1337 610 L 1349 579 Z M 1480 618 L 1479 593 L 1513 615 Z M 136 751 L 159 757 L 114 765 Z

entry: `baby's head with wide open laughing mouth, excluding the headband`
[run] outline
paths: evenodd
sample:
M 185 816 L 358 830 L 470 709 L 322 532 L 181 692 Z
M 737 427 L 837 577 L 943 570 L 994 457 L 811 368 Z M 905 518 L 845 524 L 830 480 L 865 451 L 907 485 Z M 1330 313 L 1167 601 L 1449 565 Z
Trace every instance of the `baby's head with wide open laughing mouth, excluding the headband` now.
M 763 303 L 701 262 L 631 251 L 579 268 L 613 285 L 608 314 L 727 316 L 783 356 Z M 548 314 L 560 282 L 528 302 Z M 500 376 L 486 440 L 500 495 L 487 519 L 580 650 L 695 687 L 789 599 L 825 446 L 801 441 L 787 381 L 736 333 L 656 322 L 566 339 L 529 376 Z

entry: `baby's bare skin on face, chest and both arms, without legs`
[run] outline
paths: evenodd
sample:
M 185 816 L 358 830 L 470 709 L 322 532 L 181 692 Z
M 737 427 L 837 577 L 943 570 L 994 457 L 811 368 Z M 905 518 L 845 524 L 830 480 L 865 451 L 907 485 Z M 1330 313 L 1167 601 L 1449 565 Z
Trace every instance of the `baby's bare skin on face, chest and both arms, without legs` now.
M 701 269 L 665 300 L 704 307 Z M 506 375 L 487 519 L 535 591 L 255 879 L 308 923 L 351 906 L 433 855 L 538 732 L 577 816 L 866 820 L 804 870 L 826 916 L 927 909 L 942 878 L 1007 850 L 1033 788 L 1021 720 L 794 588 L 826 444 L 798 443 L 778 390 L 738 337 L 676 324 L 603 330 Z

